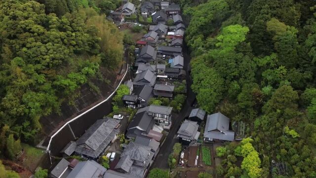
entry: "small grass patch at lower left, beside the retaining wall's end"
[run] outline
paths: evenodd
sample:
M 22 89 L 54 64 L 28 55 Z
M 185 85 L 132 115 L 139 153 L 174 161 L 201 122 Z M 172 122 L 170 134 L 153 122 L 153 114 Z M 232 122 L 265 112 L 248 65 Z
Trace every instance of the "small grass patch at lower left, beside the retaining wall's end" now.
M 23 165 L 28 167 L 30 170 L 35 171 L 44 153 L 41 149 L 35 148 L 28 144 L 21 143 L 21 145 L 25 152 L 25 161 L 23 161 Z

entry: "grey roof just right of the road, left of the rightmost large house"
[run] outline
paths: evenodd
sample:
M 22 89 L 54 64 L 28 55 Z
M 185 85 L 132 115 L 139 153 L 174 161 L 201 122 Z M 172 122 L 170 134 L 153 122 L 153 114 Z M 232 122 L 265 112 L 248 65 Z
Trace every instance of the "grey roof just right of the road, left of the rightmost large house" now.
M 199 132 L 197 132 L 197 129 L 197 122 L 185 120 L 178 131 L 179 137 L 190 140 L 197 140 L 200 134 Z

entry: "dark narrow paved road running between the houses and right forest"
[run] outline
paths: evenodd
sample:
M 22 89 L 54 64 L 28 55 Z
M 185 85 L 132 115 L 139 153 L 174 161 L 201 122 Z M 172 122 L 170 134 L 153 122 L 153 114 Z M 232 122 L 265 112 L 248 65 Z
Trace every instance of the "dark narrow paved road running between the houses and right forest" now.
M 153 168 L 160 168 L 160 169 L 168 169 L 168 156 L 172 152 L 172 147 L 175 143 L 178 142 L 178 138 L 176 137 L 176 133 L 178 132 L 178 129 L 180 127 L 181 122 L 183 119 L 188 116 L 189 112 L 191 112 L 191 106 L 195 100 L 195 94 L 191 90 L 191 84 L 192 80 L 189 73 L 189 64 L 191 61 L 191 57 L 188 55 L 188 47 L 183 47 L 183 57 L 184 57 L 184 68 L 187 73 L 187 99 L 184 107 L 180 111 L 178 115 L 174 115 L 172 124 L 169 134 L 167 135 L 167 138 L 163 145 L 160 147 L 160 151 L 154 160 L 153 165 L 151 166 L 151 169 Z

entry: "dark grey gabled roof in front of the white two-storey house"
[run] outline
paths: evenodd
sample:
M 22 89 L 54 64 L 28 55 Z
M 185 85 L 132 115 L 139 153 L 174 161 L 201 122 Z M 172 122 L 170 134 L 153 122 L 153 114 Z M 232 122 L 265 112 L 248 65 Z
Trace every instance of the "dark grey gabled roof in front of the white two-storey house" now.
M 128 124 L 127 130 L 136 128 L 148 134 L 149 131 L 153 128 L 154 124 L 154 119 L 146 112 L 136 113 L 132 121 Z

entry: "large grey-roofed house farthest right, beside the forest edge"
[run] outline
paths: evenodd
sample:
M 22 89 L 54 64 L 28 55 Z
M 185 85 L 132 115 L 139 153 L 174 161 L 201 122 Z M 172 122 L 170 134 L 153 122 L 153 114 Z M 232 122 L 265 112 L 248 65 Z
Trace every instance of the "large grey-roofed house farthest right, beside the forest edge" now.
M 207 115 L 204 130 L 204 141 L 226 140 L 234 141 L 235 132 L 229 131 L 230 119 L 218 112 Z

